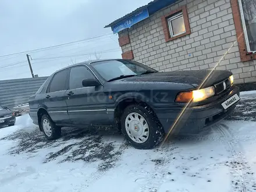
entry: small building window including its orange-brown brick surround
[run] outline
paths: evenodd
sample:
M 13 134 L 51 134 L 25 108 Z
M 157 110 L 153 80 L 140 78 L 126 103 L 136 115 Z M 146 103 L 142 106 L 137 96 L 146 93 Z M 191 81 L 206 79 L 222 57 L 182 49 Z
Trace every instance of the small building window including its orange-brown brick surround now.
M 190 34 L 186 6 L 162 16 L 162 25 L 166 42 Z

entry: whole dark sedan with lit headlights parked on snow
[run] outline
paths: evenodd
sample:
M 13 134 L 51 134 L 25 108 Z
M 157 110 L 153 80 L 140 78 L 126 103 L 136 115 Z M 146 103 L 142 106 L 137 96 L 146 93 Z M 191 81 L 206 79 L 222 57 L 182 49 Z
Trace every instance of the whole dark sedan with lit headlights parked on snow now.
M 134 147 L 153 148 L 177 118 L 176 131 L 198 133 L 233 111 L 240 98 L 232 73 L 215 70 L 201 86 L 208 74 L 158 72 L 123 59 L 83 62 L 45 81 L 29 99 L 30 116 L 50 140 L 63 126 L 109 125 Z

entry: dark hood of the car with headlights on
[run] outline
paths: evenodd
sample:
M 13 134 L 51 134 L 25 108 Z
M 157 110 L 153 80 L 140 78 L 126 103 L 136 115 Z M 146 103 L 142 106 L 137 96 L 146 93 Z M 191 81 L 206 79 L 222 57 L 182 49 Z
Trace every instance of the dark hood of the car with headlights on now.
M 158 72 L 129 77 L 121 81 L 163 81 L 173 83 L 190 84 L 194 87 L 200 86 L 211 70 L 184 70 L 176 72 Z M 225 70 L 214 70 L 207 78 L 202 87 L 209 87 L 219 81 L 227 79 L 232 73 Z

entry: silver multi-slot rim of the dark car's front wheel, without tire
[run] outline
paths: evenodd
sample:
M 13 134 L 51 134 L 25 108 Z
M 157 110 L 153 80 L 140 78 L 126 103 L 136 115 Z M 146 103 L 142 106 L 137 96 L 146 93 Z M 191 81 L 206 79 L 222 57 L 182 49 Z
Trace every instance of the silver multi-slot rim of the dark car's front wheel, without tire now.
M 126 133 L 136 143 L 145 143 L 150 135 L 150 129 L 145 118 L 139 113 L 129 113 L 125 119 Z

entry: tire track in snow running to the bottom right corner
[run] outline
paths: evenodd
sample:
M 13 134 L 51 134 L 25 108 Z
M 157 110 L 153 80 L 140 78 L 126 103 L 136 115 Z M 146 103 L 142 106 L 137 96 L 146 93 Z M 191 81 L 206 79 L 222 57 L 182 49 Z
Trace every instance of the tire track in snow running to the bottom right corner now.
M 229 127 L 224 124 L 216 125 L 216 130 L 219 131 L 223 137 L 221 141 L 230 154 L 230 162 L 226 162 L 225 165 L 230 168 L 232 191 L 255 191 L 256 182 L 253 176 L 254 173 L 248 164 L 239 141 L 234 141 L 233 134 L 230 133 Z

